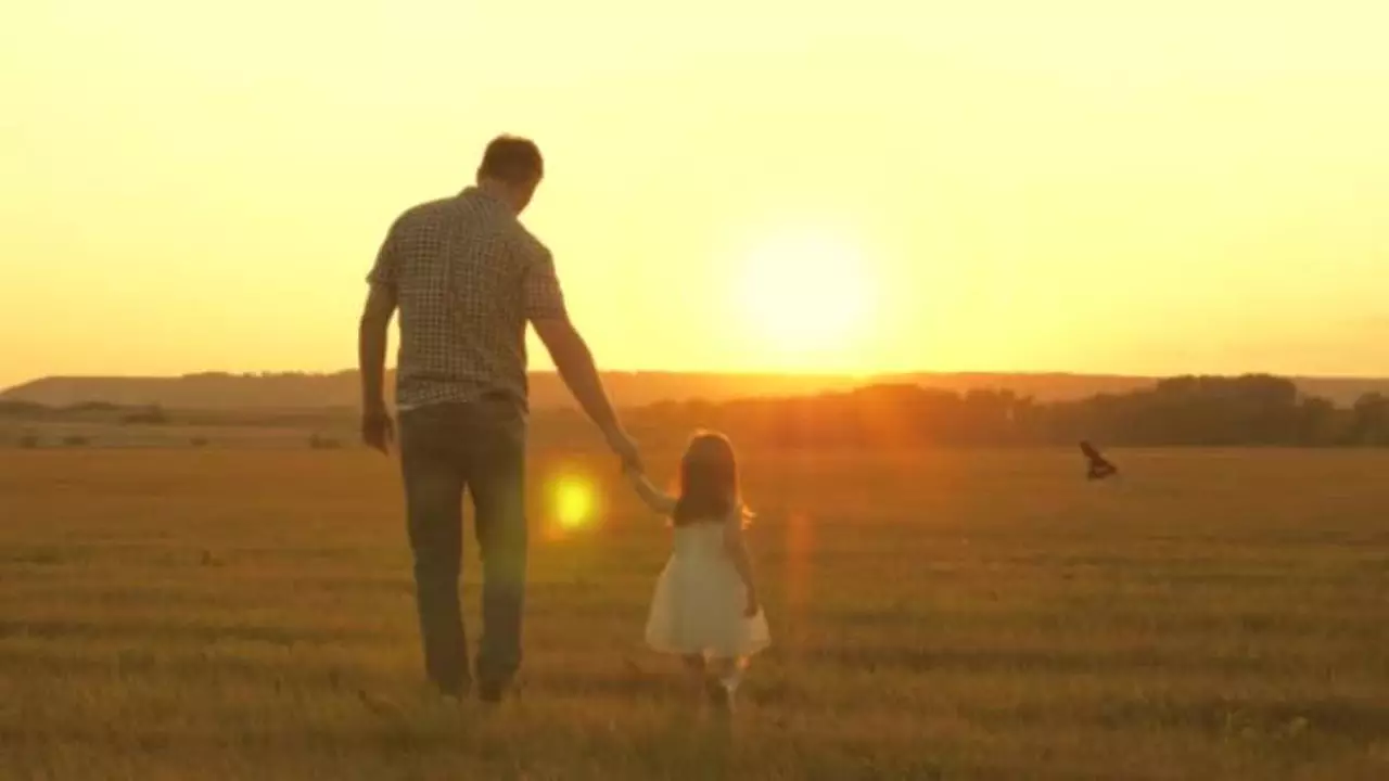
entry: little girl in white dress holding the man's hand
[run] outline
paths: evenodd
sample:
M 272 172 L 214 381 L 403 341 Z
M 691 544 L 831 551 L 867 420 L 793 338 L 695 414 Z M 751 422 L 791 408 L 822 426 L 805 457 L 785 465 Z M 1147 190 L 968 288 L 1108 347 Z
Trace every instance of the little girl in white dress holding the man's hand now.
M 696 434 L 681 460 L 679 498 L 643 474 L 629 477 L 642 499 L 675 525 L 646 642 L 682 656 L 713 703 L 731 710 L 747 659 L 771 642 L 743 542 L 751 514 L 739 499 L 733 446 L 721 434 Z

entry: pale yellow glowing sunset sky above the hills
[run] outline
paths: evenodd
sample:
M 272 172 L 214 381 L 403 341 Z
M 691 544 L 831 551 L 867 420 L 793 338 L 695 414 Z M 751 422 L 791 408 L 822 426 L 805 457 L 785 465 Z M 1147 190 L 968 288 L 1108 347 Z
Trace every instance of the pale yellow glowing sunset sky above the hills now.
M 385 229 L 501 131 L 546 154 L 525 218 L 604 367 L 1389 374 L 1386 31 L 1382 0 L 10 3 L 0 385 L 353 365 Z

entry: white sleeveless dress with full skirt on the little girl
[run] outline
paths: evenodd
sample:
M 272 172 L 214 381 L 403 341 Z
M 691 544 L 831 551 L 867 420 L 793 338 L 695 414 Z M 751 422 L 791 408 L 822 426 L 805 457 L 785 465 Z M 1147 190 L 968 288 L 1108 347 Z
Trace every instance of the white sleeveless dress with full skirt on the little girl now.
M 656 582 L 646 642 L 664 653 L 746 657 L 771 645 L 767 614 L 747 618 L 747 589 L 724 550 L 724 524 L 675 527 L 675 543 Z

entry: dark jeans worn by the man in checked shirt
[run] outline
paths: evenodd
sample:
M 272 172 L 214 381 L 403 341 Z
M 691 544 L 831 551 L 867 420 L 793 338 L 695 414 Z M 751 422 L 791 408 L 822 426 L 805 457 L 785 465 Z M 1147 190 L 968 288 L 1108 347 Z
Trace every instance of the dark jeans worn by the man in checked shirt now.
M 525 416 L 510 399 L 400 413 L 400 460 L 425 670 L 446 693 L 471 682 L 458 600 L 463 495 L 482 552 L 478 681 L 504 687 L 521 666 L 525 602 Z

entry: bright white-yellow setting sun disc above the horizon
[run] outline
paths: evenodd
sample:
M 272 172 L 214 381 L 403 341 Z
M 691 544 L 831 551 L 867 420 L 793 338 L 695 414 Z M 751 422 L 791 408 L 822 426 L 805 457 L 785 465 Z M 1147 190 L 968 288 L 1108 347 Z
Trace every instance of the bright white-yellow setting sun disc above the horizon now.
M 824 229 L 768 236 L 743 260 L 740 304 L 767 347 L 797 360 L 850 349 L 872 310 L 868 268 L 853 240 Z

